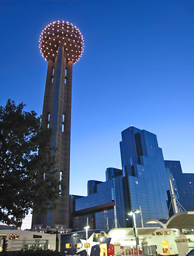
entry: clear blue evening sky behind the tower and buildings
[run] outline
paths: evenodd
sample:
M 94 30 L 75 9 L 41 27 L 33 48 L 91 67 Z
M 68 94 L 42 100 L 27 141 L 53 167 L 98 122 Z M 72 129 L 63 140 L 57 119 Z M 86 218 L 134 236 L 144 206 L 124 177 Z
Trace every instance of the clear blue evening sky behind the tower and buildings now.
M 194 1 L 0 1 L 1 94 L 41 115 L 47 62 L 41 30 L 77 26 L 85 51 L 74 65 L 70 193 L 121 168 L 120 132 L 153 132 L 166 160 L 194 172 Z

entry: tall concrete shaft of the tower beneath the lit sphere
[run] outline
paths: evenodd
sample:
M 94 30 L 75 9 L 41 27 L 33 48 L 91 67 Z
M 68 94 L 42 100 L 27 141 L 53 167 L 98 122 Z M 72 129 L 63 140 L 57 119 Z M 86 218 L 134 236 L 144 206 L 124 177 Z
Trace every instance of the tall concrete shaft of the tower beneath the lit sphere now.
M 34 214 L 32 227 L 69 227 L 69 160 L 71 137 L 72 61 L 67 61 L 63 46 L 58 47 L 55 60 L 47 68 L 42 125 L 53 129 L 55 148 L 54 176 L 61 181 L 63 191 L 57 207 L 47 215 Z

